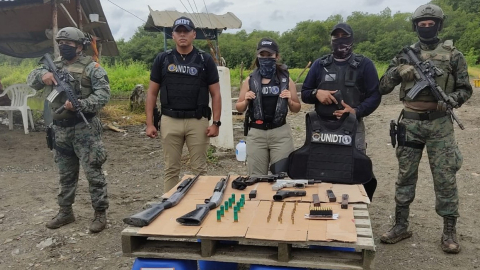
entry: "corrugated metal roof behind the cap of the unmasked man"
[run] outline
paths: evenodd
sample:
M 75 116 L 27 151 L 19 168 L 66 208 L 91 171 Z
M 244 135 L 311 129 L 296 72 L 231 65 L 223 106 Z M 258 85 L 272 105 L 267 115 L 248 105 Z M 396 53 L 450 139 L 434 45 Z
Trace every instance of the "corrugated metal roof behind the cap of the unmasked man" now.
M 215 15 L 211 13 L 185 13 L 169 10 L 158 11 L 152 10 L 150 6 L 148 9 L 150 10 L 150 15 L 148 15 L 147 24 L 145 25 L 145 29 L 148 31 L 158 31 L 155 27 L 161 27 L 160 30 L 162 31 L 163 27 L 171 28 L 173 22 L 182 16 L 190 18 L 196 28 L 225 30 L 242 27 L 242 21 L 231 12 L 227 12 L 223 15 Z

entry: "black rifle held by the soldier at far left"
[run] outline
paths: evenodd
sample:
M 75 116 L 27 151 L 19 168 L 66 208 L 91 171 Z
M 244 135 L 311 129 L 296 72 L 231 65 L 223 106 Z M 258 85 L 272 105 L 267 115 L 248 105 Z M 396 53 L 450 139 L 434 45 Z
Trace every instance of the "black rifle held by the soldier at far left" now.
M 53 102 L 60 93 L 65 92 L 67 99 L 72 103 L 77 115 L 83 119 L 88 128 L 92 128 L 90 123 L 88 123 L 87 119 L 85 118 L 85 115 L 83 115 L 83 113 L 80 111 L 80 102 L 78 101 L 74 90 L 68 83 L 69 79 L 73 79 L 72 75 L 68 72 L 58 70 L 57 66 L 55 66 L 53 63 L 52 57 L 48 53 L 43 55 L 43 57 L 40 59 L 40 62 L 42 62 L 48 68 L 48 70 L 53 73 L 53 77 L 57 81 L 57 87 L 55 87 L 55 90 L 48 95 L 47 100 Z M 57 109 L 55 113 L 61 114 L 64 110 L 65 105 Z

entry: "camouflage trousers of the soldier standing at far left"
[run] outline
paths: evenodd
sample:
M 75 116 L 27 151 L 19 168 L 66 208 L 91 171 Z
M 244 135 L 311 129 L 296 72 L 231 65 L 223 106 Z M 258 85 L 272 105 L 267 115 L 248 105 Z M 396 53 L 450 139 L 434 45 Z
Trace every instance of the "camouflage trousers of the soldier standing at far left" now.
M 92 206 L 95 210 L 108 208 L 107 182 L 102 165 L 107 152 L 102 142 L 102 124 L 97 117 L 74 127 L 53 126 L 55 132 L 55 163 L 60 172 L 58 205 L 70 206 L 75 202 L 80 164 L 89 184 Z

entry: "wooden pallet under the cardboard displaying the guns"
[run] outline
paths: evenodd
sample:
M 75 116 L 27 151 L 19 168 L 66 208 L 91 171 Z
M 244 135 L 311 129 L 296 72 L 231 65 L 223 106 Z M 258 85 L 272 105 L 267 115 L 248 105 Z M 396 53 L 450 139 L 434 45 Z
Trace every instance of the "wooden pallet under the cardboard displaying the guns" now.
M 140 228 L 122 231 L 127 257 L 207 260 L 322 269 L 373 269 L 375 244 L 367 205 L 354 209 L 357 242 L 273 242 L 245 238 L 173 238 L 138 234 Z M 238 243 L 231 241 L 238 241 Z M 354 248 L 355 252 L 312 249 L 309 246 Z

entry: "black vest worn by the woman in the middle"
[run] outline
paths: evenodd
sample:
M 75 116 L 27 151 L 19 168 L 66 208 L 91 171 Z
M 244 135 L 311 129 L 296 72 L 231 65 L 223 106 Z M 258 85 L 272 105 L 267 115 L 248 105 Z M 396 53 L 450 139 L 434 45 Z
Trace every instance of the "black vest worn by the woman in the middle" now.
M 270 80 L 268 85 L 262 85 L 262 76 L 258 69 L 254 70 L 250 74 L 249 87 L 250 90 L 255 92 L 255 99 L 250 103 L 249 110 L 253 110 L 251 113 L 250 121 L 256 120 L 268 121 L 275 125 L 281 125 L 285 123 L 285 119 L 288 113 L 288 99 L 279 98 L 280 93 L 288 89 L 289 85 L 289 73 L 287 70 L 281 69 L 281 73 Z M 276 101 L 272 100 L 264 102 L 264 98 L 272 99 L 276 98 Z M 268 116 L 266 117 L 266 114 Z

